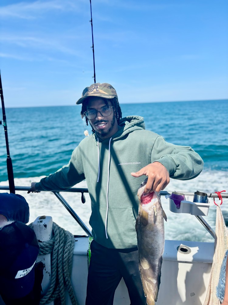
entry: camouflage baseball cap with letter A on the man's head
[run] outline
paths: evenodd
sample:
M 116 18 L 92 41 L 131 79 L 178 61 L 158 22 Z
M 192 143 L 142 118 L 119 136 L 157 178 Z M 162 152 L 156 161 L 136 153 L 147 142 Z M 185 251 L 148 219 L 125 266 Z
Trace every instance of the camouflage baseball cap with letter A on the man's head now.
M 118 99 L 116 90 L 112 85 L 107 83 L 95 83 L 83 90 L 81 98 L 76 102 L 76 104 L 82 104 L 84 100 L 90 96 L 98 96 L 105 99 L 113 99 L 116 97 Z

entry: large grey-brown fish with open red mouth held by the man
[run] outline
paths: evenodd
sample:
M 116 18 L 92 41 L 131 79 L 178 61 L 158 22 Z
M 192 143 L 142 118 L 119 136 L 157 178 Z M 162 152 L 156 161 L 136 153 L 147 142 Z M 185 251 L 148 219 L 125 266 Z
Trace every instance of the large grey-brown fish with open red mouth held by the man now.
M 159 192 L 144 192 L 147 178 L 138 190 L 139 211 L 136 218 L 136 233 L 139 250 L 139 271 L 148 305 L 157 301 L 161 283 L 161 264 L 164 252 L 164 219 Z

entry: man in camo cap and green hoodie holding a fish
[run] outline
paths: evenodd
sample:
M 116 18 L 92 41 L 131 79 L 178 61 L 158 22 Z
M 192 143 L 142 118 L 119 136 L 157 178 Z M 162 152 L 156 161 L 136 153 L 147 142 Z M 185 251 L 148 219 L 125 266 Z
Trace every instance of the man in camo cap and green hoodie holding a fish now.
M 139 268 L 135 222 L 137 190 L 148 176 L 145 192 L 163 190 L 169 179 L 199 175 L 203 161 L 191 147 L 164 141 L 146 131 L 142 117 L 121 119 L 116 90 L 107 83 L 86 87 L 76 104 L 93 134 L 81 141 L 67 166 L 33 182 L 29 192 L 60 191 L 86 178 L 91 198 L 94 240 L 86 304 L 112 304 L 121 278 L 131 305 L 146 304 Z

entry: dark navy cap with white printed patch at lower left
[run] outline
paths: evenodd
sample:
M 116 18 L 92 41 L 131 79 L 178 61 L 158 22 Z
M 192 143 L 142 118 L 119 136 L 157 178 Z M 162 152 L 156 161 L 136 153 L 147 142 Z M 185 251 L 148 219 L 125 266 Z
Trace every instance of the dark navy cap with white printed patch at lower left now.
M 15 221 L 0 229 L 0 294 L 17 299 L 32 291 L 39 245 L 34 231 Z

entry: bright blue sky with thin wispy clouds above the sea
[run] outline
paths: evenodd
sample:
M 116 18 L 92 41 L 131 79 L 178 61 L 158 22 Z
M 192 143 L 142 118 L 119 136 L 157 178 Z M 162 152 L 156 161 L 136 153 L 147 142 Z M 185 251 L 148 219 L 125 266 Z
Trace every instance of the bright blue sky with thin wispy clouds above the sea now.
M 0 2 L 5 108 L 75 105 L 94 83 L 89 0 Z M 96 82 L 120 103 L 228 98 L 227 0 L 92 0 Z

